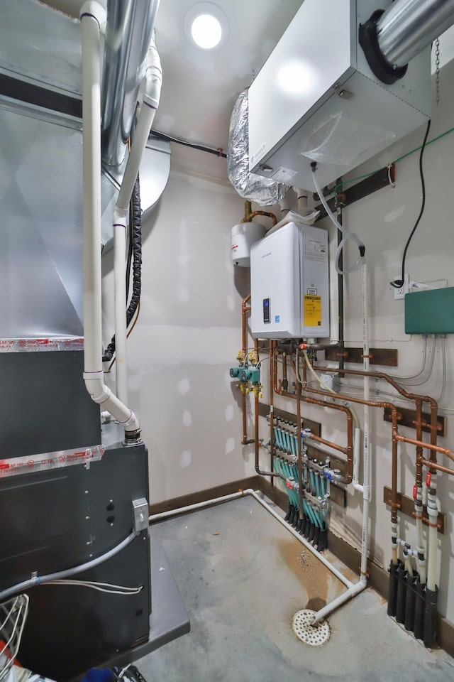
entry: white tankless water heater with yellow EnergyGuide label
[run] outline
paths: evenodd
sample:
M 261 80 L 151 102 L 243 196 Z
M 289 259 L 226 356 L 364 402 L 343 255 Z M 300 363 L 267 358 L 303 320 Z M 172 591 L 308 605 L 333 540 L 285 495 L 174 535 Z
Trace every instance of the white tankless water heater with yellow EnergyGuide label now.
M 253 244 L 250 292 L 253 337 L 329 336 L 328 232 L 289 222 Z

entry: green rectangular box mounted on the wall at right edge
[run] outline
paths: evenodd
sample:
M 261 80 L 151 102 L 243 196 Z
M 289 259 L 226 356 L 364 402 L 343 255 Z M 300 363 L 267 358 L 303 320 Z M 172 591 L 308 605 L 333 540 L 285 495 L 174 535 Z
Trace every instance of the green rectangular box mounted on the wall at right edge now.
M 454 286 L 405 295 L 406 334 L 454 334 Z

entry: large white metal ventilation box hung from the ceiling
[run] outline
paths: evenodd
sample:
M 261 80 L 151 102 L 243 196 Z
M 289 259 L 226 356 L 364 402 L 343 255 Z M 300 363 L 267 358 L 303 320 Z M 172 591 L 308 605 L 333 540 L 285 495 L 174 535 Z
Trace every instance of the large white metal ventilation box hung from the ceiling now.
M 323 187 L 427 123 L 431 48 L 386 85 L 359 44 L 360 23 L 391 4 L 304 0 L 248 91 L 252 173 L 311 190 L 315 161 Z

